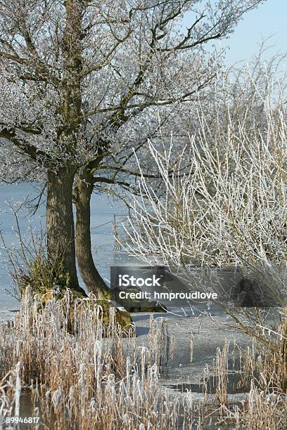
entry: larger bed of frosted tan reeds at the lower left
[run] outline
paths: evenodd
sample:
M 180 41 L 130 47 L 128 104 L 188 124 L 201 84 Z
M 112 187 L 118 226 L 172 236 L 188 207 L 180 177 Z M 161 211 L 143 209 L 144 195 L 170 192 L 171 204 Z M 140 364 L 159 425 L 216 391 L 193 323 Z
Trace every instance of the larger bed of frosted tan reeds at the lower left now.
M 188 394 L 183 408 L 158 393 L 166 323 L 152 320 L 150 347 L 138 348 L 133 328 L 122 333 L 113 317 L 111 307 L 104 325 L 91 296 L 74 301 L 67 292 L 42 304 L 27 291 L 13 327 L 0 329 L 1 415 L 19 415 L 20 393 L 28 391 L 47 428 L 191 428 Z

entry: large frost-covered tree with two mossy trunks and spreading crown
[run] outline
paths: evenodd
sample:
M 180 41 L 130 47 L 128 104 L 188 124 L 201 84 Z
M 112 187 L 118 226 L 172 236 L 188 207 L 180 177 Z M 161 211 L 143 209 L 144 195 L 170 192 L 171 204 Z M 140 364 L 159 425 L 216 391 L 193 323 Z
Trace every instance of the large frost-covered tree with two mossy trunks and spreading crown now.
M 119 177 L 132 174 L 132 148 L 156 133 L 155 110 L 167 121 L 211 82 L 217 60 L 204 44 L 260 2 L 1 1 L 0 137 L 46 174 L 48 256 L 60 256 L 73 289 L 75 178 L 79 268 L 89 291 L 104 292 L 89 242 L 93 188 L 129 189 Z

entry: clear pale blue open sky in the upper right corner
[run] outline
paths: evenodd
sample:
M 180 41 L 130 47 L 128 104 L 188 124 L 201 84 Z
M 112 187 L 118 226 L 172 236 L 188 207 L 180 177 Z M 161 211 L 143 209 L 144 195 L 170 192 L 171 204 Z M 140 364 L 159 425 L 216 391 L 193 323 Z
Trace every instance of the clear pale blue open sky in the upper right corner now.
M 186 20 L 187 20 L 186 16 Z M 274 45 L 265 58 L 287 51 L 287 0 L 267 0 L 258 8 L 246 13 L 229 39 L 216 41 L 215 46 L 229 46 L 225 63 L 232 65 L 240 60 L 250 60 L 258 52 L 262 38 L 274 36 L 267 44 Z

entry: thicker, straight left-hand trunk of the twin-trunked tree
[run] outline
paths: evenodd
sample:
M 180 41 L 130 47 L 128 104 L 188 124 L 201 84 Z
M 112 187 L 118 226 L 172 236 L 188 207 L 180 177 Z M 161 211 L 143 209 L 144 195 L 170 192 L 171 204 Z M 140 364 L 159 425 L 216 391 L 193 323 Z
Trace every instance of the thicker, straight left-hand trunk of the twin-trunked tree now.
M 68 287 L 79 287 L 75 261 L 75 226 L 72 213 L 72 186 L 75 170 L 62 167 L 48 172 L 46 230 L 49 261 L 60 259 L 63 272 L 69 274 Z

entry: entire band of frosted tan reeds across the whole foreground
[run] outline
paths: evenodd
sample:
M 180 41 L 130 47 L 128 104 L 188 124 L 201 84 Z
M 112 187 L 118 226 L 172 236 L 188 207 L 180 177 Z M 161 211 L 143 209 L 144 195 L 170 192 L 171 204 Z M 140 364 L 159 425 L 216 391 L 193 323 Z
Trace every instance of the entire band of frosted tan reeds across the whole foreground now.
M 164 318 L 150 320 L 147 346 L 134 328 L 123 332 L 110 308 L 110 322 L 92 295 L 51 297 L 45 304 L 29 289 L 13 324 L 0 326 L 0 415 L 20 416 L 21 396 L 30 396 L 38 429 L 284 429 L 286 363 L 267 348 L 218 348 L 214 367 L 203 372 L 203 395 L 170 393 L 160 374 L 177 347 Z M 191 342 L 191 358 L 196 342 Z M 237 367 L 232 365 L 235 360 Z M 192 363 L 191 363 L 192 365 Z M 231 373 L 245 400 L 228 393 Z M 215 378 L 216 390 L 208 393 Z M 22 427 L 18 427 L 22 428 Z

